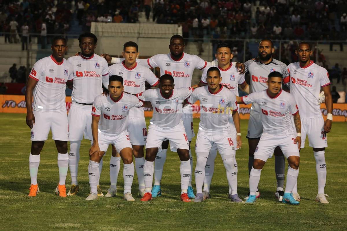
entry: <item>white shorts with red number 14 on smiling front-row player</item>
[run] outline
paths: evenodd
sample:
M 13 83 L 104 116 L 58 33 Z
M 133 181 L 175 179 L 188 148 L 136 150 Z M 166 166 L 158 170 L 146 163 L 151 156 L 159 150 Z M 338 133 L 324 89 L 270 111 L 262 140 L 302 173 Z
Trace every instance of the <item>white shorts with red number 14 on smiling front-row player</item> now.
M 170 141 L 171 151 L 176 151 L 177 149 L 189 150 L 189 142 L 184 130 L 183 122 L 168 129 L 163 129 L 155 124 L 150 124 L 148 127 L 146 148 L 159 148 L 159 150 L 161 150 L 161 144 L 166 139 Z

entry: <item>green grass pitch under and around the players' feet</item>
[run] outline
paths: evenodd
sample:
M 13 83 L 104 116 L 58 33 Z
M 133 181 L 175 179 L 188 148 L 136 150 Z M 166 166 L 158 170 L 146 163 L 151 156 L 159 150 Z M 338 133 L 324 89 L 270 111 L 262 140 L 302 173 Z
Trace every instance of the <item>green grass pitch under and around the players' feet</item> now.
M 58 184 L 57 150 L 50 139 L 41 152 L 38 184 L 41 192 L 28 198 L 30 177 L 28 156 L 30 130 L 24 114 L 0 114 L 0 230 L 347 230 L 346 131 L 347 123 L 333 123 L 326 149 L 328 205 L 314 201 L 317 177 L 312 148 L 301 151 L 298 206 L 278 203 L 274 197 L 276 177 L 274 160 L 266 163 L 259 184 L 261 198 L 253 205 L 235 204 L 227 198 L 228 184 L 220 156 L 215 161 L 212 198 L 203 203 L 179 201 L 180 175 L 176 153 L 168 152 L 162 178 L 162 196 L 151 202 L 126 202 L 122 199 L 122 169 L 118 177 L 118 196 L 85 201 L 89 193 L 88 148 L 83 140 L 79 161 L 77 196 L 59 198 L 54 189 Z M 197 132 L 198 119 L 194 120 Z M 147 119 L 147 123 L 149 119 Z M 238 193 L 248 190 L 247 121 L 241 122 L 243 145 L 237 151 Z M 195 139 L 192 145 L 195 146 Z M 110 149 L 109 149 L 110 150 Z M 104 194 L 109 187 L 110 151 L 104 157 L 100 184 Z M 195 152 L 193 150 L 193 156 Z M 195 158 L 194 158 L 195 161 Z M 195 162 L 194 162 L 195 167 Z M 69 188 L 70 175 L 67 176 Z M 134 177 L 133 195 L 137 195 Z M 195 182 L 193 179 L 193 187 Z

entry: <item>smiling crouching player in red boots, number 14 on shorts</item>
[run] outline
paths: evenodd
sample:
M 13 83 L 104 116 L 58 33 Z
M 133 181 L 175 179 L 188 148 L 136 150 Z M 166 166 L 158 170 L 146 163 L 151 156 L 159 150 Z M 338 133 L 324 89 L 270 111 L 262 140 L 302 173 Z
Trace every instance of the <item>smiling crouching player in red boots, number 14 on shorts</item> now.
M 145 181 L 145 195 L 141 201 L 152 199 L 152 183 L 154 173 L 154 160 L 164 140 L 171 142 L 171 147 L 177 149 L 181 161 L 181 201 L 190 202 L 188 197 L 188 184 L 191 176 L 191 165 L 189 160 L 189 141 L 185 133 L 181 118 L 182 103 L 193 92 L 192 88 L 174 88 L 174 78 L 164 74 L 159 80 L 159 89 L 149 89 L 138 94 L 143 101 L 150 101 L 153 106 L 153 117 L 151 119 L 147 142 L 146 158 L 143 166 Z

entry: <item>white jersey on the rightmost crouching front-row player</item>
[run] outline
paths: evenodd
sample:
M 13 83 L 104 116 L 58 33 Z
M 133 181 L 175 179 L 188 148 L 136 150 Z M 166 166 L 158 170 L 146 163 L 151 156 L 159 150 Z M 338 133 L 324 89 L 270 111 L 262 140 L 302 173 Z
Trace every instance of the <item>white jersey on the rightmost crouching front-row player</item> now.
M 290 114 L 299 112 L 295 99 L 288 92 L 283 91 L 271 97 L 268 90 L 253 92 L 248 96 L 241 97 L 245 104 L 256 103 L 261 109 L 261 123 L 264 133 L 272 135 L 293 135 L 293 123 Z

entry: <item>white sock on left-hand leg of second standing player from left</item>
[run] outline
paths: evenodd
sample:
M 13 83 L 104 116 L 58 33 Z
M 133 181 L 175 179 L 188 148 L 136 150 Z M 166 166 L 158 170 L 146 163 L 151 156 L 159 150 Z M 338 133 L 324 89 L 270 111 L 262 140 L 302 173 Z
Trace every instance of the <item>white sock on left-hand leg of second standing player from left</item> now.
M 79 148 L 81 147 L 81 140 L 70 141 L 69 152 L 69 169 L 71 175 L 71 185 L 78 185 L 78 161 L 79 161 Z

